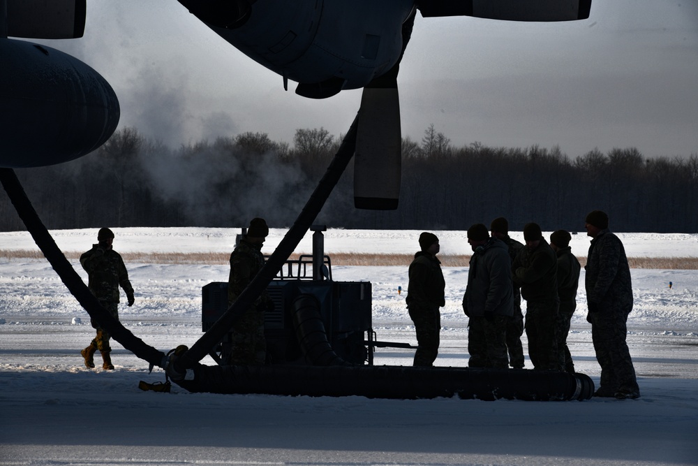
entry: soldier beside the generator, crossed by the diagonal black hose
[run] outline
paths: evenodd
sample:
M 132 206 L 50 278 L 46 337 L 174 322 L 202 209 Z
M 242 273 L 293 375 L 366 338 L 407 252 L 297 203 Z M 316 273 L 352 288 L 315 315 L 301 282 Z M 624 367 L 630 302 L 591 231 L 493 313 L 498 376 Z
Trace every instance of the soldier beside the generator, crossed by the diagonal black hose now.
M 264 267 L 261 249 L 269 227 L 264 219 L 250 221 L 247 234 L 230 254 L 230 277 L 228 278 L 228 307 Z M 265 290 L 262 296 L 246 310 L 231 331 L 232 351 L 228 358 L 230 365 L 263 365 L 267 358 L 265 339 L 265 311 L 273 309 L 274 303 Z

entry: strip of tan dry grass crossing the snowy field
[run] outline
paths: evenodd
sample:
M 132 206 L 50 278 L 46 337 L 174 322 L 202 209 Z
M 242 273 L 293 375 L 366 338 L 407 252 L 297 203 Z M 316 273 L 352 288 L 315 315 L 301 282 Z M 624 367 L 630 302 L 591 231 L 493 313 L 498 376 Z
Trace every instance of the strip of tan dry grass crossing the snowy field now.
M 66 252 L 68 259 L 80 259 L 80 252 Z M 202 253 L 122 253 L 126 263 L 172 263 L 172 264 L 227 264 L 230 252 Z M 470 256 L 439 254 L 443 267 L 467 267 Z M 18 249 L 8 251 L 0 249 L 0 259 L 13 261 L 19 259 L 43 259 L 38 250 Z M 297 259 L 297 256 L 291 256 Z M 332 265 L 403 265 L 407 267 L 413 254 L 332 254 Z M 584 267 L 586 257 L 578 257 Z M 630 268 L 654 268 L 662 270 L 698 270 L 698 257 L 629 257 Z

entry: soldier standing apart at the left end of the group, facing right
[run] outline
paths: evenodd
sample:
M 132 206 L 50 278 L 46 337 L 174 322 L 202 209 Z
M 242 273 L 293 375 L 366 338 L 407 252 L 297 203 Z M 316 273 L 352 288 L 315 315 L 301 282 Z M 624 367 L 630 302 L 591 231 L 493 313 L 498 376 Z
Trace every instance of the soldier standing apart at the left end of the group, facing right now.
M 440 249 L 436 235 L 426 231 L 419 235 L 419 247 L 421 251 L 415 254 L 415 259 L 410 263 L 406 303 L 417 332 L 413 365 L 431 367 L 438 355 L 441 330 L 439 307 L 446 305 L 446 282 L 441 272 L 441 262 L 436 259 Z

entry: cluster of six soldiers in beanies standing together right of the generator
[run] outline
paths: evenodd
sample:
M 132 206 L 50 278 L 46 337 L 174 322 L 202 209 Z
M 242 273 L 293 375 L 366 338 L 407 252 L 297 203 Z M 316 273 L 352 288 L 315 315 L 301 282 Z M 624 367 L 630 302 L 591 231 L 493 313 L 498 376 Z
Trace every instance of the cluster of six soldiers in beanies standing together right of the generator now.
M 638 398 L 628 345 L 626 321 L 632 310 L 630 268 L 621 240 L 608 228 L 608 216 L 595 210 L 585 227 L 592 239 L 586 264 L 587 320 L 601 366 L 596 396 Z M 491 235 L 490 235 L 491 232 Z M 535 370 L 574 373 L 567 347 L 572 314 L 577 307 L 581 266 L 572 254 L 572 236 L 554 231 L 547 242 L 540 226 L 523 227 L 526 245 L 510 238 L 507 219 L 468 228 L 473 249 L 463 312 L 468 316 L 469 367 L 524 367 L 521 335 L 526 330 L 528 356 Z M 406 298 L 415 323 L 415 366 L 431 366 L 439 347 L 440 312 L 445 305 L 445 280 L 436 258 L 438 238 L 424 232 L 420 251 L 410 264 Z M 521 312 L 526 300 L 526 319 Z

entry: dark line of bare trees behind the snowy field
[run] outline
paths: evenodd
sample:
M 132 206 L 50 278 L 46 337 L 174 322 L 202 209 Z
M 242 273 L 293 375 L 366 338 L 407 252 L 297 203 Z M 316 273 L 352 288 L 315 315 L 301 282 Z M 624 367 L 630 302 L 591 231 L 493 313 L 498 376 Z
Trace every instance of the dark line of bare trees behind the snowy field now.
M 46 226 L 242 227 L 252 217 L 292 225 L 342 136 L 298 129 L 293 144 L 242 133 L 171 148 L 125 128 L 95 152 L 57 166 L 15 170 Z M 453 147 L 433 129 L 403 139 L 399 209 L 356 210 L 352 163 L 316 224 L 329 228 L 465 230 L 507 217 L 512 231 L 584 231 L 605 210 L 618 232 L 698 232 L 698 154 L 646 158 L 637 149 L 570 159 L 550 150 Z M 0 230 L 24 226 L 0 195 Z

